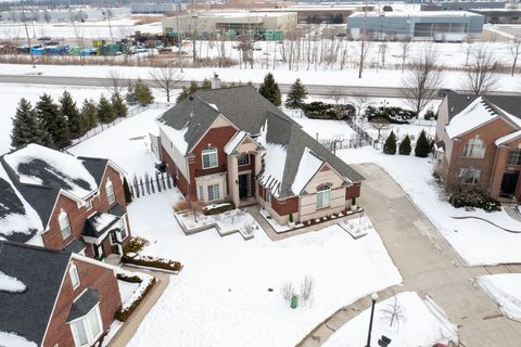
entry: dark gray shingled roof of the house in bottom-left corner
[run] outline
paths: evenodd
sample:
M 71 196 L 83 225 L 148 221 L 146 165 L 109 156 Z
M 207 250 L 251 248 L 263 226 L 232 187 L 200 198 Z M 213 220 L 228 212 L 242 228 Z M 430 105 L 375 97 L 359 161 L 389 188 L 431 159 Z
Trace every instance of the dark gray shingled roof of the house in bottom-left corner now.
M 71 253 L 0 242 L 0 271 L 26 286 L 0 292 L 0 331 L 41 344 L 69 260 Z

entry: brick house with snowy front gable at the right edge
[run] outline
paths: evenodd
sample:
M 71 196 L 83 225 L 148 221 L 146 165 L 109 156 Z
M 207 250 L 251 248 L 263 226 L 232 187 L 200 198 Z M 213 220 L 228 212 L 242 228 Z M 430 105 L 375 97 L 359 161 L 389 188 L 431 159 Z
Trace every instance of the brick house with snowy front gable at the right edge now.
M 440 105 L 434 171 L 448 184 L 521 198 L 521 97 L 448 92 Z

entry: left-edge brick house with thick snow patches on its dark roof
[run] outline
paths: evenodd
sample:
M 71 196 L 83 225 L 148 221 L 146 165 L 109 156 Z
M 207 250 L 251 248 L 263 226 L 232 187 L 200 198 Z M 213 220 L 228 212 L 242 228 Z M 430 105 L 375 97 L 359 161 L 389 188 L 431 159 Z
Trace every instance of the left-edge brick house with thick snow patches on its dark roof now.
M 96 259 L 130 240 L 123 170 L 37 144 L 0 158 L 0 240 L 69 249 Z

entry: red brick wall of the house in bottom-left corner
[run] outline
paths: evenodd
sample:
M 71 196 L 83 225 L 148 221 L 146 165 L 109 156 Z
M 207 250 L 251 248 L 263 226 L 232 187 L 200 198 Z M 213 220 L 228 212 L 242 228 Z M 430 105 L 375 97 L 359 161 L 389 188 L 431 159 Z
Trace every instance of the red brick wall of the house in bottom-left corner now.
M 80 285 L 76 290 L 73 290 L 73 283 L 67 269 L 43 340 L 45 347 L 53 347 L 56 344 L 60 346 L 74 346 L 73 333 L 71 326 L 66 323 L 66 319 L 71 311 L 73 300 L 79 296 L 85 288 L 98 291 L 104 331 L 106 331 L 113 322 L 114 313 L 122 307 L 117 279 L 113 270 L 77 259 L 73 259 L 73 262 L 78 269 Z

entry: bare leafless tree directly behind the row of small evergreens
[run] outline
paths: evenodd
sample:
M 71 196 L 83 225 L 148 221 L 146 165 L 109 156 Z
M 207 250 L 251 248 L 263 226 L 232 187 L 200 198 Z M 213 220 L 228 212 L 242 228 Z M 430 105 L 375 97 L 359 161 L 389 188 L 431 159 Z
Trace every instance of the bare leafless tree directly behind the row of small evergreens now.
M 425 46 L 403 78 L 404 98 L 417 116 L 432 100 L 442 80 L 443 72 L 437 65 L 437 53 L 433 46 Z

